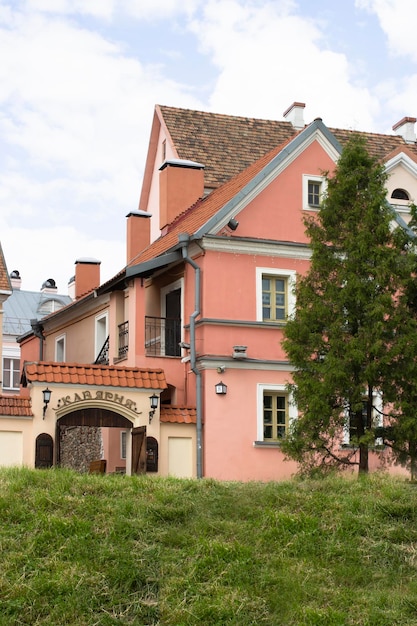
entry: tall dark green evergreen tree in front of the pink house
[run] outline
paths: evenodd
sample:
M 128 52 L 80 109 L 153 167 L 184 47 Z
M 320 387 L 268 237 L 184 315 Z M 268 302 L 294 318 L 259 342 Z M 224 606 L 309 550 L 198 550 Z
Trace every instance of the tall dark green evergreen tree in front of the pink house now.
M 404 342 L 415 344 L 416 325 L 405 328 L 410 316 L 402 297 L 410 237 L 393 227 L 385 184 L 383 166 L 354 136 L 327 176 L 320 211 L 305 220 L 311 265 L 297 279 L 296 312 L 284 339 L 299 418 L 283 443 L 304 470 L 358 464 L 368 471 L 375 399 L 385 388 L 395 395 Z

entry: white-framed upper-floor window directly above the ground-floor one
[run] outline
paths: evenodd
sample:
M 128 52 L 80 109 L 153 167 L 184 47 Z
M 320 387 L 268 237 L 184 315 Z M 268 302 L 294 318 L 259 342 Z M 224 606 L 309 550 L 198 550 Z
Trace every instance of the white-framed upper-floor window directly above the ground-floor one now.
M 256 320 L 285 324 L 295 311 L 294 270 L 256 268 Z

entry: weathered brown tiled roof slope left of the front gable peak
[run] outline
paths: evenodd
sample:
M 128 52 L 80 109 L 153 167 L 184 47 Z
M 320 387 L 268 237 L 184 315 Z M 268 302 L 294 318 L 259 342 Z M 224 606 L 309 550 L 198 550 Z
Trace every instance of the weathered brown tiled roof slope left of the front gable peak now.
M 158 108 L 178 157 L 202 163 L 210 188 L 219 187 L 297 132 L 291 122 Z

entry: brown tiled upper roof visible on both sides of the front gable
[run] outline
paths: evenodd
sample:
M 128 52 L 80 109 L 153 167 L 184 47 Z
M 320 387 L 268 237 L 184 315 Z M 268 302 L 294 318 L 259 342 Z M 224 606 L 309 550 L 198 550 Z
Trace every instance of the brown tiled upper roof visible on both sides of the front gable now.
M 317 121 L 320 118 L 316 118 Z M 205 186 L 215 189 L 236 176 L 276 146 L 297 134 L 291 122 L 195 111 L 156 105 L 143 180 L 140 207 L 148 197 L 152 168 L 157 150 L 159 128 L 163 128 L 176 157 L 205 166 Z M 386 135 L 330 127 L 341 145 L 359 134 L 367 141 L 369 153 L 383 160 L 400 146 L 417 155 L 416 144 L 401 135 Z

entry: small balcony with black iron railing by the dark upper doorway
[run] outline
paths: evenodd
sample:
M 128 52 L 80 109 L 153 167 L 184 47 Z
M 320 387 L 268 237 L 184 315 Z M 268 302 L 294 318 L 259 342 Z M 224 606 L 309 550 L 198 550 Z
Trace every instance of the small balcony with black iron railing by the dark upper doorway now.
M 181 320 L 145 317 L 146 356 L 181 356 Z

